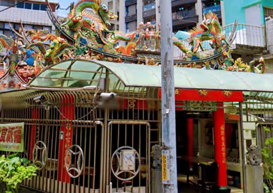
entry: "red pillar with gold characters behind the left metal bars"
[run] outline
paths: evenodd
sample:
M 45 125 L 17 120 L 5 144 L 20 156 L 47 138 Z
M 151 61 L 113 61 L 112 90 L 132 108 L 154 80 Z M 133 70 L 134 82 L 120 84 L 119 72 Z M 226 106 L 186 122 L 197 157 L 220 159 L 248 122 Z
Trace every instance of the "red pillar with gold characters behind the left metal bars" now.
M 60 120 L 64 120 L 62 122 L 62 126 L 60 129 L 60 146 L 59 146 L 59 165 L 58 165 L 58 180 L 60 182 L 70 183 L 70 177 L 65 168 L 65 156 L 66 149 L 72 145 L 72 127 L 71 120 L 74 120 L 75 115 L 75 100 L 74 96 L 69 94 L 63 95 L 60 106 Z M 69 158 L 68 158 L 68 161 Z

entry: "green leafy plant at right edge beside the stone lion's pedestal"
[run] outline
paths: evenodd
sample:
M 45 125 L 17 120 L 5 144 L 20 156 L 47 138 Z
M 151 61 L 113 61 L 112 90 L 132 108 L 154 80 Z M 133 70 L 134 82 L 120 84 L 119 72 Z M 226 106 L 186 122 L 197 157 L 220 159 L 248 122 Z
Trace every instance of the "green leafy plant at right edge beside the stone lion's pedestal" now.
M 266 133 L 271 133 L 267 127 L 263 127 Z M 264 168 L 264 189 L 265 193 L 273 193 L 273 157 L 272 157 L 273 138 L 265 140 L 265 147 L 262 149 L 263 168 Z

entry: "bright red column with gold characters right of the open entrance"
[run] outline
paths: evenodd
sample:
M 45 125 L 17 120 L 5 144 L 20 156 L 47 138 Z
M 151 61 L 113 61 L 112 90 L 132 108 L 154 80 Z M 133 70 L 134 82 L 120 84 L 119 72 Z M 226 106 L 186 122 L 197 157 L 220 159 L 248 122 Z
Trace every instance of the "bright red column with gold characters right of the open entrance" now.
M 227 171 L 226 171 L 226 134 L 225 134 L 225 113 L 223 103 L 213 112 L 214 122 L 214 149 L 215 161 L 218 164 L 218 188 L 227 192 Z M 218 192 L 222 192 L 219 190 Z

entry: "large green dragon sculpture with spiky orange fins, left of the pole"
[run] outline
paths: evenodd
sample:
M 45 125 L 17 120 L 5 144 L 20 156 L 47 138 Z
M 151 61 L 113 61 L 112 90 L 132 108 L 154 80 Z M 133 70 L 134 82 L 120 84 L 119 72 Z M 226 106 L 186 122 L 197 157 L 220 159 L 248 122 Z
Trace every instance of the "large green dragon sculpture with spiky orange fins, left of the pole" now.
M 93 9 L 95 15 L 87 12 L 85 9 Z M 89 39 L 96 38 L 98 43 L 115 44 L 118 41 L 132 41 L 136 33 L 124 34 L 120 31 L 110 31 L 111 19 L 117 18 L 112 12 L 109 12 L 107 6 L 98 0 L 81 0 L 76 3 L 71 10 L 67 20 L 61 24 L 61 27 L 74 36 L 77 42 L 79 36 L 84 36 Z M 108 35 L 105 37 L 104 32 Z

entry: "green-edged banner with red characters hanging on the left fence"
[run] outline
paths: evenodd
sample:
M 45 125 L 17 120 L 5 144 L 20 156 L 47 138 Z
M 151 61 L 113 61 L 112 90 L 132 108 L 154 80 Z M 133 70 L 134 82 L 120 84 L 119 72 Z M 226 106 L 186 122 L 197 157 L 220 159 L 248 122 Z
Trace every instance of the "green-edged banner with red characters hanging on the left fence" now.
M 24 123 L 0 124 L 0 151 L 24 151 Z

